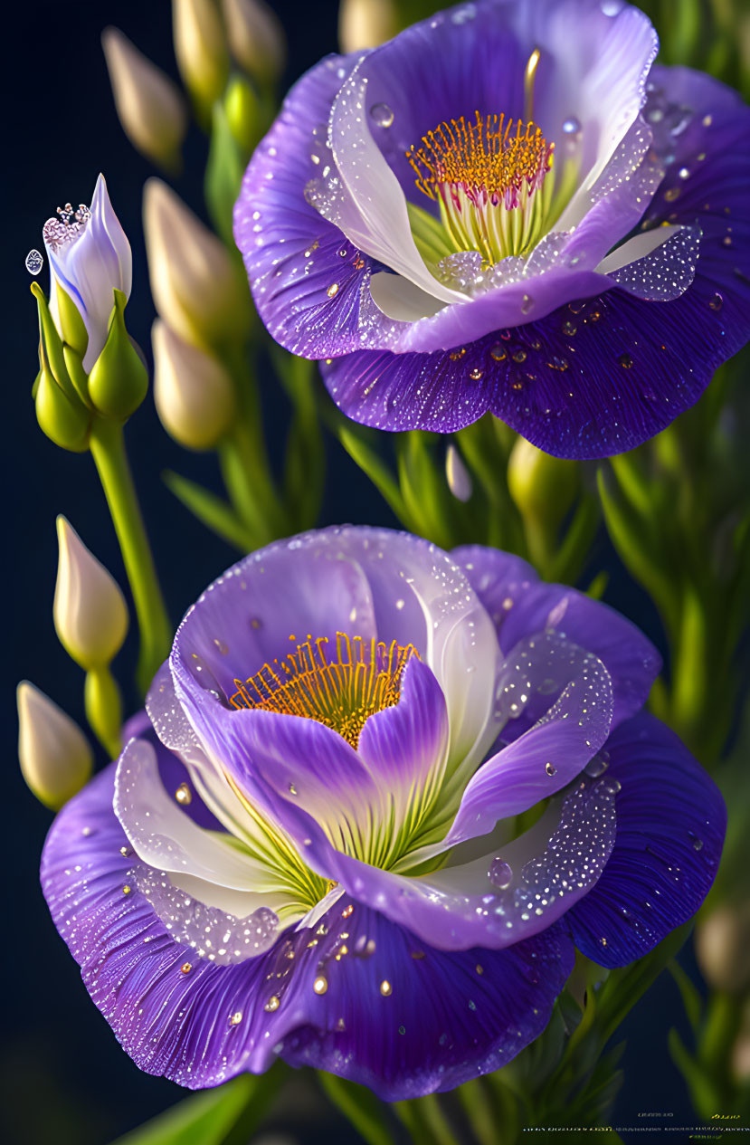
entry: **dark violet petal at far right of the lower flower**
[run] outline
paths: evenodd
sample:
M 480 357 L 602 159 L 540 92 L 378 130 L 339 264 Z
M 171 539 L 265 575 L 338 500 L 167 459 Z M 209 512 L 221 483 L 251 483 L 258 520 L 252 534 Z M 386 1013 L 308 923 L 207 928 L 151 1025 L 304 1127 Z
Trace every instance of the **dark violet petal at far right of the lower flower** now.
M 621 725 L 607 752 L 600 782 L 622 784 L 617 838 L 601 878 L 567 921 L 584 954 L 621 966 L 703 902 L 721 856 L 726 807 L 680 740 L 646 712 Z

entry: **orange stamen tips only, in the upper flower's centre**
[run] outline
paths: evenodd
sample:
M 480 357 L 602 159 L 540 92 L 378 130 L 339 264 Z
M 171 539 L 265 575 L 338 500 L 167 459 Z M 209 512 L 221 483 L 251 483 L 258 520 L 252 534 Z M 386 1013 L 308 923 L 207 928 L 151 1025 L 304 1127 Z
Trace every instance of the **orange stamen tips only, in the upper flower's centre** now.
M 461 116 L 440 124 L 406 151 L 417 187 L 431 199 L 460 188 L 475 205 L 521 205 L 524 187 L 536 190 L 550 171 L 554 143 L 532 123 L 475 114 L 474 123 Z

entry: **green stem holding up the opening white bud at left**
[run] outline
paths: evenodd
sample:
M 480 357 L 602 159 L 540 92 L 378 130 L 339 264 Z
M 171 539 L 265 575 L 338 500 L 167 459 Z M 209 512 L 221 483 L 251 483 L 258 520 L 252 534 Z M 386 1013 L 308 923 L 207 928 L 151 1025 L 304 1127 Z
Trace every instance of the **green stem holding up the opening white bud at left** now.
M 136 681 L 145 693 L 172 643 L 172 625 L 157 579 L 135 485 L 125 452 L 123 426 L 95 418 L 89 448 L 109 505 L 141 632 Z

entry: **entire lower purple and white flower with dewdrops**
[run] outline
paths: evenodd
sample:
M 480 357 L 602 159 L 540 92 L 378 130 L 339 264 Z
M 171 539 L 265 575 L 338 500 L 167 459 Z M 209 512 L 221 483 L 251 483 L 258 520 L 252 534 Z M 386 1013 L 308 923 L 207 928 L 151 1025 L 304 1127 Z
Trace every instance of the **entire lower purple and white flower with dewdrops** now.
M 494 550 L 344 528 L 245 558 L 44 853 L 125 1049 L 189 1087 L 281 1056 L 388 1099 L 504 1065 L 574 943 L 629 962 L 713 878 L 724 805 L 640 710 L 657 669 Z

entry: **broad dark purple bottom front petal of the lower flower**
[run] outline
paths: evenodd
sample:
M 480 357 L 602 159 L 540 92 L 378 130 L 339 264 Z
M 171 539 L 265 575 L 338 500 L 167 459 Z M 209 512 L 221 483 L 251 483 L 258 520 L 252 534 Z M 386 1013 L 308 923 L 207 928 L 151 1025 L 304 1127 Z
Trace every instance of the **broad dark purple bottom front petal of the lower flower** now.
M 546 1025 L 573 965 L 559 927 L 507 951 L 447 955 L 339 900 L 313 939 L 286 931 L 234 965 L 197 956 L 127 882 L 112 781 L 110 767 L 57 816 L 42 885 L 94 1002 L 145 1072 L 198 1089 L 282 1055 L 390 1100 L 495 1069 Z

